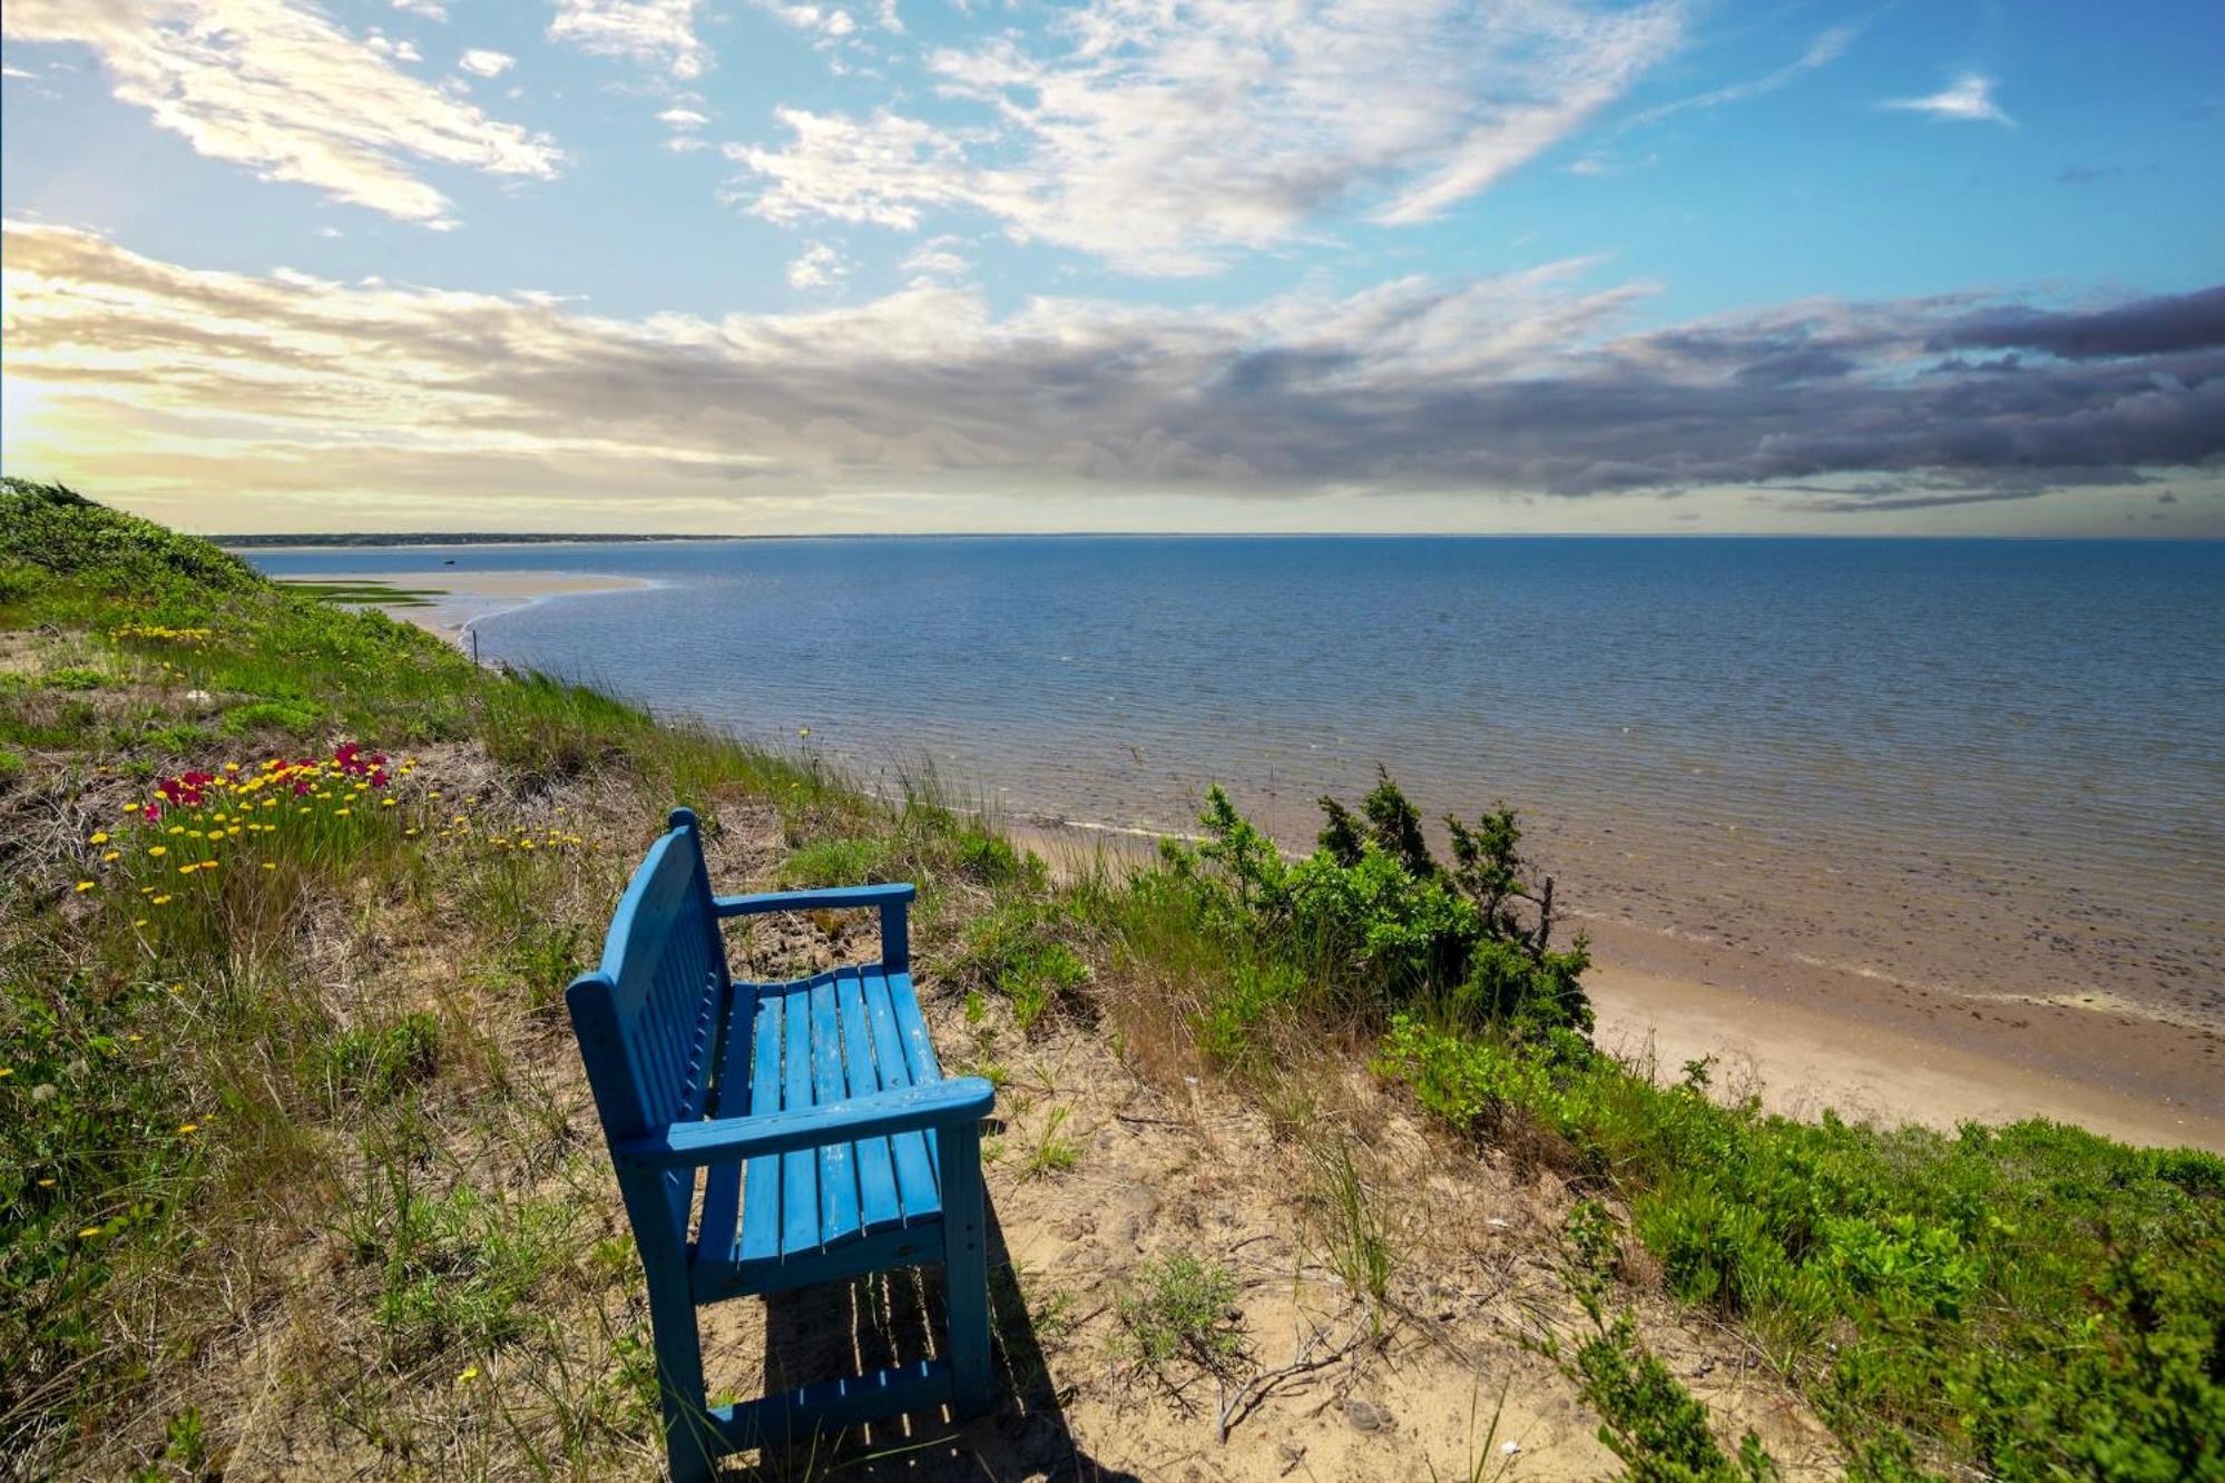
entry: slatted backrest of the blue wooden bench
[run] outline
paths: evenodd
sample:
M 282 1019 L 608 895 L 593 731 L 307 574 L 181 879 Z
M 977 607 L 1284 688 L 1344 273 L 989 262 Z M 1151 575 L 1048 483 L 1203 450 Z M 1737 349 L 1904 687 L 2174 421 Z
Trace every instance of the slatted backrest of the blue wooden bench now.
M 696 818 L 674 809 L 672 829 L 619 898 L 601 969 L 565 992 L 612 1145 L 703 1116 L 728 987 Z M 692 1172 L 630 1178 L 621 1170 L 619 1183 L 636 1238 L 685 1243 Z

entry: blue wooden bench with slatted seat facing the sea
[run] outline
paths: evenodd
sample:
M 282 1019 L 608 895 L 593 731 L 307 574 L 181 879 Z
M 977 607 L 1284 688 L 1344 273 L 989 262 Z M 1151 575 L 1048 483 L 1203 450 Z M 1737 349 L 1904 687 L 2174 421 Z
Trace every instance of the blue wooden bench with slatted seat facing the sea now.
M 912 994 L 910 885 L 712 896 L 696 818 L 634 872 L 603 965 L 565 994 L 650 1285 L 672 1476 L 723 1452 L 950 1405 L 990 1405 L 981 1118 L 995 1089 L 943 1076 Z M 881 961 L 734 983 L 719 923 L 879 907 Z M 699 1203 L 701 1196 L 701 1203 Z M 696 1307 L 943 1263 L 939 1358 L 705 1403 Z

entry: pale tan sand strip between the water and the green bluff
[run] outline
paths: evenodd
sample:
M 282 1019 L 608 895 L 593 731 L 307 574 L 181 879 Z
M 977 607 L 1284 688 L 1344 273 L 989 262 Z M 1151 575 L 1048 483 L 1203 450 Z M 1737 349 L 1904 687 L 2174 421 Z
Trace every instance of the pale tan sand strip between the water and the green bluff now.
M 1157 836 L 1052 820 L 1006 832 L 1052 867 L 1141 863 Z M 2152 1147 L 2225 1154 L 2225 1036 L 2109 1007 L 2014 1003 L 1907 985 L 1762 945 L 1695 943 L 1571 916 L 1602 1049 L 1664 1081 L 1715 1056 L 1722 1098 L 1769 1112 L 1954 1132 L 2023 1118 Z

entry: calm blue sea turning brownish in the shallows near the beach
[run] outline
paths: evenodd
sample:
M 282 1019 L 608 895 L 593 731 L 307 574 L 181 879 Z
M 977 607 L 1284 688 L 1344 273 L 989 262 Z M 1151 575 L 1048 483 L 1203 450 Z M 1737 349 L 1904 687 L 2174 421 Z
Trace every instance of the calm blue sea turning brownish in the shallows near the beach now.
M 454 558 L 456 565 L 443 565 Z M 1012 812 L 1288 838 L 1388 763 L 1591 909 L 1907 978 L 2225 1009 L 2225 545 L 926 538 L 271 551 L 659 587 L 487 658 Z

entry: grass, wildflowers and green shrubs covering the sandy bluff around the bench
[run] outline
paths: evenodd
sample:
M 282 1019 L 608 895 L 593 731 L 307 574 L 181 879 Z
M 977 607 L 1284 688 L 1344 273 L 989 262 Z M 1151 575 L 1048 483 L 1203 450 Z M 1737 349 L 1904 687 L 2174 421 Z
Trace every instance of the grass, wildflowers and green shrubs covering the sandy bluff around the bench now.
M 1780 1474 L 1651 1352 L 1655 1310 L 1727 1334 L 1851 1476 L 2225 1476 L 2225 1161 L 2051 1123 L 1802 1123 L 1713 1096 L 1707 1063 L 1618 1063 L 1504 807 L 1437 829 L 1384 774 L 1288 858 L 1215 789 L 1199 843 L 1055 872 L 932 785 L 870 796 L 808 752 L 481 669 L 22 480 L 0 494 L 7 1467 L 274 1470 L 305 1443 L 271 1432 L 314 1416 L 303 1467 L 654 1476 L 639 1270 L 561 992 L 676 803 L 714 869 L 917 880 L 921 985 L 981 1027 L 966 1069 L 1010 1081 L 1010 1047 L 1066 1034 L 1268 1109 L 1315 1258 L 1371 1312 L 1353 1343 L 1420 1323 L 1426 1272 L 1311 1087 L 1366 1078 L 1440 1161 L 1546 1181 L 1531 1256 L 1564 1303 L 1520 1338 L 1629 1476 Z M 992 1201 L 1090 1158 L 1057 1096 L 1030 1125 L 997 1141 Z M 1079 1323 L 1039 1276 L 1001 1281 L 1035 1281 L 1039 1334 Z M 1092 1363 L 1242 1399 L 1230 1292 L 1210 1258 L 1141 1263 Z

